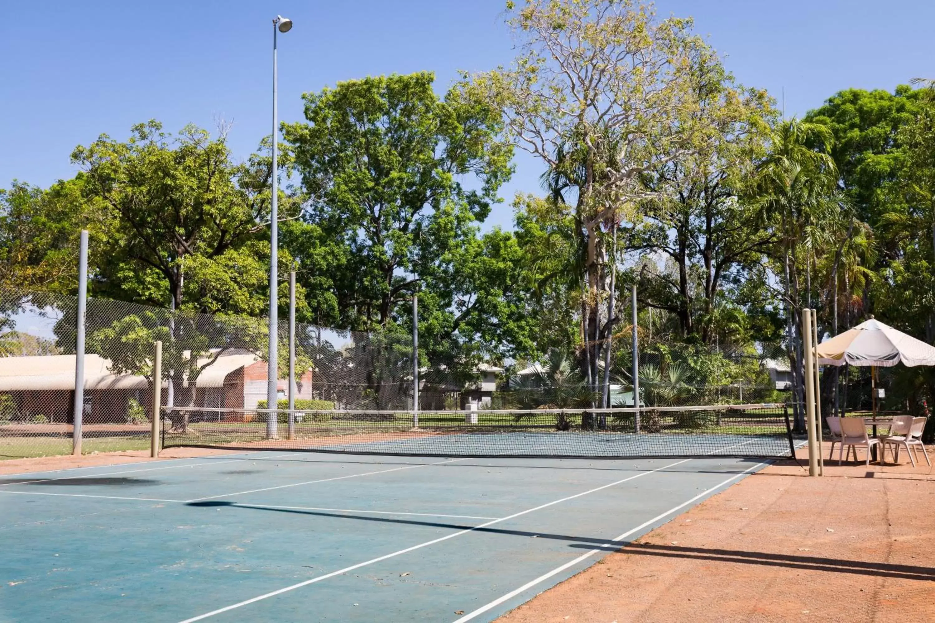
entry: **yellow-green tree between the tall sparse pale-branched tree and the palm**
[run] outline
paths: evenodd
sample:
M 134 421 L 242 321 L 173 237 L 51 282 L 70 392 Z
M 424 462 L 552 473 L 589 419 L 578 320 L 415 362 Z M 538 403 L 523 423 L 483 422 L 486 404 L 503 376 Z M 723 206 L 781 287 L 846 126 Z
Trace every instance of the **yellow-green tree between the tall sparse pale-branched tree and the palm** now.
M 718 335 L 724 282 L 754 270 L 775 242 L 749 180 L 776 111 L 766 92 L 737 85 L 712 55 L 699 55 L 690 76 L 697 149 L 644 176 L 654 195 L 640 204 L 645 221 L 631 249 L 661 251 L 676 269 L 640 285 L 646 304 L 677 315 L 683 337 L 712 344 L 726 337 Z

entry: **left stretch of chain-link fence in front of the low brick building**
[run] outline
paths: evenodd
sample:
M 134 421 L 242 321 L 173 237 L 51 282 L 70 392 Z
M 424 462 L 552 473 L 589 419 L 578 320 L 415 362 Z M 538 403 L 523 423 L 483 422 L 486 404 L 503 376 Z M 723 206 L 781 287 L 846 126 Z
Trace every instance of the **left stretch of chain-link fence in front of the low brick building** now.
M 77 306 L 73 296 L 0 292 L 2 459 L 71 453 Z M 162 404 L 186 407 L 169 412 L 175 427 L 217 418 L 218 408 L 266 407 L 267 326 L 266 319 L 89 298 L 82 451 L 150 446 L 157 340 L 163 343 Z M 280 408 L 289 390 L 288 340 L 288 322 L 281 321 Z M 295 399 L 306 408 L 411 409 L 411 337 L 296 323 Z

